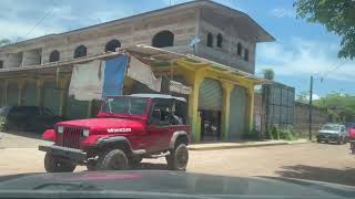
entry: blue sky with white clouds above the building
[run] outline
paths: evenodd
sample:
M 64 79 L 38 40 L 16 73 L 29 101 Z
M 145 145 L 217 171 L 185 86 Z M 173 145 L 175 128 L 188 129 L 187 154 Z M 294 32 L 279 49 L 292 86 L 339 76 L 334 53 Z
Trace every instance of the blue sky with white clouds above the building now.
M 30 39 L 129 17 L 186 0 L 1 0 L 0 39 Z M 338 60 L 339 38 L 320 24 L 296 19 L 292 0 L 215 0 L 251 15 L 276 42 L 260 43 L 256 75 L 271 67 L 276 81 L 306 92 L 315 76 L 314 92 L 355 95 L 355 62 Z M 43 18 L 44 20 L 32 28 Z M 31 31 L 32 30 L 32 31 Z M 338 69 L 336 69 L 339 66 Z M 324 81 L 321 82 L 321 76 Z

